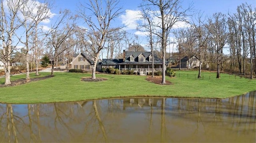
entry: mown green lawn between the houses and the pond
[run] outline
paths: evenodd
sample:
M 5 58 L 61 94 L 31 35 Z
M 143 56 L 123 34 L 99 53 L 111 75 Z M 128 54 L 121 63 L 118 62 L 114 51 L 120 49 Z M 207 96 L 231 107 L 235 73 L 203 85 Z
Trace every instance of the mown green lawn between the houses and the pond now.
M 50 73 L 40 74 L 46 76 Z M 256 80 L 229 74 L 221 74 L 221 78 L 216 79 L 213 72 L 202 72 L 202 78 L 198 79 L 197 74 L 197 71 L 176 71 L 176 77 L 166 77 L 173 85 L 158 85 L 145 80 L 146 76 L 97 74 L 96 77 L 108 80 L 83 82 L 80 78 L 90 77 L 90 73 L 55 72 L 52 78 L 0 88 L 0 102 L 72 102 L 131 96 L 228 98 L 256 90 Z M 11 80 L 19 78 L 25 78 L 25 75 L 12 76 Z M 4 83 L 4 78 L 0 78 L 0 83 Z

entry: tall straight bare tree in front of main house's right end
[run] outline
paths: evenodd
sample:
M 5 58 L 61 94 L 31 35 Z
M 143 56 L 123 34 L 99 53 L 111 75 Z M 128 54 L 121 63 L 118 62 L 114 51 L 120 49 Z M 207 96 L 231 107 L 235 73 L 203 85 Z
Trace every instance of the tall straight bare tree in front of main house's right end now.
M 186 13 L 191 9 L 189 6 L 187 9 L 182 9 L 181 1 L 179 0 L 145 0 L 143 7 L 148 8 L 152 11 L 154 16 L 159 18 L 156 27 L 158 30 L 154 33 L 161 39 L 161 50 L 162 50 L 162 84 L 165 82 L 165 56 L 166 56 L 166 45 L 167 38 L 170 35 L 171 29 L 174 24 L 181 21 L 186 21 Z

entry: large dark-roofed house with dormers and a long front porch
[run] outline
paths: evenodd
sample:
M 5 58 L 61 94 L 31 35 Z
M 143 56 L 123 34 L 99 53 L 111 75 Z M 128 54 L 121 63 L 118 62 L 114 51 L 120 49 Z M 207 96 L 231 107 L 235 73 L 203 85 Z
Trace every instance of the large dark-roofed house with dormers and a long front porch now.
M 151 52 L 126 52 L 123 51 L 123 59 L 102 59 L 99 68 L 116 68 L 120 71 L 134 70 L 140 74 L 148 74 L 148 72 L 162 71 L 162 59 L 154 56 L 154 68 L 152 67 Z M 165 65 L 168 65 L 166 61 Z

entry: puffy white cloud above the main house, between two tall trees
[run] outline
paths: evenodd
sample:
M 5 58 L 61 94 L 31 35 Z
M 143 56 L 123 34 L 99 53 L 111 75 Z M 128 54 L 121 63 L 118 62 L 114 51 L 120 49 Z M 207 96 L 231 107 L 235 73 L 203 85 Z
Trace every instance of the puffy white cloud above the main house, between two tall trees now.
M 140 20 L 139 10 L 126 10 L 124 15 L 120 16 L 122 24 L 126 25 L 125 30 L 137 28 L 137 21 Z

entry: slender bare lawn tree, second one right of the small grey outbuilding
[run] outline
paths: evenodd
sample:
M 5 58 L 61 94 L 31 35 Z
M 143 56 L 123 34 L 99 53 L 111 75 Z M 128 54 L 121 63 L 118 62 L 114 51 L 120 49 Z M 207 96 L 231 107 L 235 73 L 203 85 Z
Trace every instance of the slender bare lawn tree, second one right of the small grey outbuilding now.
M 227 42 L 228 38 L 228 30 L 226 24 L 226 16 L 221 13 L 213 14 L 212 18 L 208 20 L 208 30 L 213 37 L 214 47 L 217 54 L 217 76 L 216 78 L 220 78 L 220 64 L 222 63 L 222 52 L 224 45 Z

